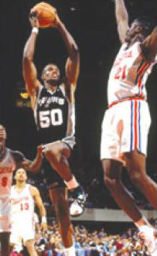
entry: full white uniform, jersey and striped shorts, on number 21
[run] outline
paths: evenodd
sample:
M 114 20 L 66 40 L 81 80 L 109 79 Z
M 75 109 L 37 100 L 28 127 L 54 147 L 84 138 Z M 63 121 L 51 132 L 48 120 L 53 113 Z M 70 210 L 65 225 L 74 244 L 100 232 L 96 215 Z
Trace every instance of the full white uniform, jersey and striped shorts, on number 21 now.
M 108 80 L 108 110 L 101 135 L 101 159 L 122 160 L 124 152 L 137 149 L 146 155 L 151 124 L 145 90 L 155 64 L 145 60 L 141 43 L 123 44 Z

